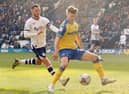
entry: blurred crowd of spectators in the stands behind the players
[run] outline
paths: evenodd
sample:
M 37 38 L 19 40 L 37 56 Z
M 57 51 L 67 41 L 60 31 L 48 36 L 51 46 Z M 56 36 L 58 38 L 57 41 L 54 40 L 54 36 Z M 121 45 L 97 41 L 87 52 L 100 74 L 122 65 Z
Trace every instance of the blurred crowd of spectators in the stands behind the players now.
M 67 2 L 66 2 L 67 1 Z M 76 0 L 78 4 L 80 0 Z M 84 1 L 84 0 L 83 0 Z M 82 2 L 83 2 L 82 1 Z M 100 7 L 96 0 L 86 0 L 87 6 L 78 6 L 80 14 L 78 22 L 80 24 L 80 34 L 83 42 L 90 42 L 90 25 L 93 17 L 99 18 L 99 26 L 106 41 L 113 42 L 112 47 L 119 41 L 120 33 L 124 29 L 129 29 L 129 0 L 98 0 L 103 2 Z M 43 16 L 48 17 L 53 24 L 59 24 L 65 17 L 62 3 L 67 5 L 68 0 L 0 0 L 0 48 L 21 48 L 19 40 L 26 40 L 21 32 L 24 30 L 25 21 L 31 16 L 30 7 L 34 3 L 41 5 Z M 72 2 L 72 0 L 71 0 Z M 92 3 L 91 3 L 92 2 Z M 96 4 L 95 4 L 96 2 Z M 86 12 L 85 12 L 85 10 Z M 61 18 L 60 15 L 63 17 Z M 55 34 L 48 30 L 47 40 L 53 41 Z M 113 39 L 114 40 L 114 39 Z M 27 41 L 29 41 L 27 39 Z M 103 46 L 107 47 L 107 46 Z

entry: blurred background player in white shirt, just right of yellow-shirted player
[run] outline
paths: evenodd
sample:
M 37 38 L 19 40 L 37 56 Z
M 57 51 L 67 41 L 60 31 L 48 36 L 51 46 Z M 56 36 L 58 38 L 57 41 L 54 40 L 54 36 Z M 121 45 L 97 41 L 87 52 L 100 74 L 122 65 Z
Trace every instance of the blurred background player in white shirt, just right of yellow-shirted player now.
M 100 49 L 100 29 L 98 25 L 98 19 L 93 19 L 93 24 L 91 25 L 91 46 L 89 51 L 94 52 L 94 49 L 96 49 L 96 52 L 99 52 Z

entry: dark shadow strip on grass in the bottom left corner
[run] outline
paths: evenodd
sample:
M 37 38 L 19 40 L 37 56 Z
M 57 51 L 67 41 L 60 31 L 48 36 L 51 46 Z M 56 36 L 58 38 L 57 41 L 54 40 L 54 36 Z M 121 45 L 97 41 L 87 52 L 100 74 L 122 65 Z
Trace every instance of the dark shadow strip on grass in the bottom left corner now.
M 0 88 L 0 94 L 29 94 L 29 91 Z

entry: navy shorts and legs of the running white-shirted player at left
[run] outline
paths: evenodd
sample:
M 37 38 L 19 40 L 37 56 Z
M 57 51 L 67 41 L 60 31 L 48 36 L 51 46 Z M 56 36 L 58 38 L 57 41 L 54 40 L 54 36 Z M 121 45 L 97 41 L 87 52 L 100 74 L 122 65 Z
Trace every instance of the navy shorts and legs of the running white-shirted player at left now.
M 30 58 L 30 59 L 15 59 L 12 68 L 14 69 L 19 64 L 34 64 L 34 65 L 41 65 L 42 63 L 47 67 L 48 72 L 53 75 L 55 73 L 54 68 L 50 60 L 46 57 L 46 49 L 44 47 L 33 49 L 37 58 Z

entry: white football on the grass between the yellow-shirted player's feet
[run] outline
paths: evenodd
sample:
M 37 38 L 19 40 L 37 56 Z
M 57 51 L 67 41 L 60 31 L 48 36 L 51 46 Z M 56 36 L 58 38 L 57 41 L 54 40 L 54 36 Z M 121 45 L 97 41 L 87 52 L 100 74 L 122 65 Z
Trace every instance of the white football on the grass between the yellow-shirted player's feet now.
M 91 81 L 90 75 L 84 73 L 80 75 L 80 84 L 82 85 L 89 85 Z

